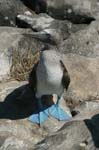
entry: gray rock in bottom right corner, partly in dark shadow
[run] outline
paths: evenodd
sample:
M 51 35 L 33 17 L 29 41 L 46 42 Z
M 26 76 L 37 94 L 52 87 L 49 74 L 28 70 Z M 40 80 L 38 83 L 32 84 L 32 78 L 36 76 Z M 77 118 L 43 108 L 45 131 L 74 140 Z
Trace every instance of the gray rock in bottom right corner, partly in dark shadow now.
M 59 131 L 37 144 L 35 150 L 98 150 L 98 113 L 99 111 L 95 110 L 89 119 L 83 120 L 80 116 L 80 120 L 75 118 L 74 121 L 66 123 Z

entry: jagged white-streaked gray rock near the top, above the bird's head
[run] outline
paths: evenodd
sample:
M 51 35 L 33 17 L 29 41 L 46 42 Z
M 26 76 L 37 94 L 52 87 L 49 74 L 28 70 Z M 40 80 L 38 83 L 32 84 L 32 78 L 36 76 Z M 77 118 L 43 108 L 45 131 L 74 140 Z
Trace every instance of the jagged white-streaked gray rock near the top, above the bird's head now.
M 24 27 L 24 24 L 29 28 L 32 28 L 33 31 L 39 32 L 44 29 L 60 29 L 63 32 L 77 32 L 86 27 L 85 24 L 72 24 L 67 20 L 57 20 L 52 18 L 51 16 L 40 13 L 39 15 L 27 15 L 27 14 L 19 14 L 17 15 L 17 21 L 19 21 L 19 26 Z M 65 33 L 65 34 L 66 34 Z

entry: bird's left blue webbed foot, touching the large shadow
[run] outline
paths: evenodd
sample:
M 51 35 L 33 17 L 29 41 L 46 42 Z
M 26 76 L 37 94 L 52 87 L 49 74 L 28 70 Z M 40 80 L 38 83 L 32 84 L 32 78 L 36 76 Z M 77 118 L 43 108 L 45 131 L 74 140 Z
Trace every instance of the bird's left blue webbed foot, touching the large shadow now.
M 48 119 L 48 109 L 39 111 L 31 115 L 28 119 L 31 122 L 41 125 L 44 121 Z

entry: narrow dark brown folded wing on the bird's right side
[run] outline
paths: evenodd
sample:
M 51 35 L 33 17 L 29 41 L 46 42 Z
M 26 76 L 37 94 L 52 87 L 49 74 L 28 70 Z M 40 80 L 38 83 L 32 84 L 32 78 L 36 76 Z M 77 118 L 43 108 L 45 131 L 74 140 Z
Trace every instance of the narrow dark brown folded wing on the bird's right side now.
M 70 84 L 70 76 L 62 60 L 60 60 L 60 64 L 63 70 L 62 84 L 63 84 L 63 87 L 67 90 Z

